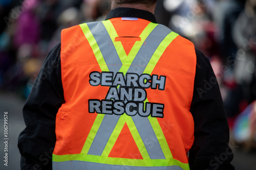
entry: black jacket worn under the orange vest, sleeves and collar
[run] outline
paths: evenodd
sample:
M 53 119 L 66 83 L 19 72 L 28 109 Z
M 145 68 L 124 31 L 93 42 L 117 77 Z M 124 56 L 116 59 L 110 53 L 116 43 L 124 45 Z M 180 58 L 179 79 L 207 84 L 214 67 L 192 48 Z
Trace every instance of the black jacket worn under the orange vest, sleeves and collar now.
M 147 11 L 117 8 L 106 19 L 137 17 L 156 22 Z M 195 141 L 189 151 L 192 170 L 234 169 L 228 147 L 229 128 L 220 89 L 209 60 L 196 49 L 197 66 L 190 112 L 195 122 Z M 22 169 L 52 169 L 52 152 L 56 142 L 56 113 L 65 103 L 61 83 L 60 43 L 47 56 L 23 109 L 26 129 L 20 133 L 18 148 Z

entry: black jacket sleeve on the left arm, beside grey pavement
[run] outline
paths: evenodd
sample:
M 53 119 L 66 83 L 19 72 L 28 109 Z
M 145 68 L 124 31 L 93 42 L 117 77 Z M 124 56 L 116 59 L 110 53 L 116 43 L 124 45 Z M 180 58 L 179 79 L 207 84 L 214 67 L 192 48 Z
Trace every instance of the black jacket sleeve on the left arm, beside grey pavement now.
M 26 128 L 18 137 L 22 170 L 52 169 L 56 142 L 55 118 L 64 102 L 59 43 L 42 65 L 23 108 Z

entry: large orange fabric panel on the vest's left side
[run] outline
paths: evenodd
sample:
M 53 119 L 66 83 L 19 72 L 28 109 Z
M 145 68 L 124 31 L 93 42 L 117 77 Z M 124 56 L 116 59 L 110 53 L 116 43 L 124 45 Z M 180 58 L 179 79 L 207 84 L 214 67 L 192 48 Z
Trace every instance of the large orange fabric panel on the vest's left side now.
M 54 154 L 79 154 L 97 116 L 88 114 L 88 100 L 99 91 L 108 92 L 108 88 L 83 88 L 91 86 L 88 81 L 90 70 L 101 70 L 80 27 L 63 30 L 61 38 L 64 40 L 61 41 L 61 78 L 66 103 L 62 104 L 56 115 Z

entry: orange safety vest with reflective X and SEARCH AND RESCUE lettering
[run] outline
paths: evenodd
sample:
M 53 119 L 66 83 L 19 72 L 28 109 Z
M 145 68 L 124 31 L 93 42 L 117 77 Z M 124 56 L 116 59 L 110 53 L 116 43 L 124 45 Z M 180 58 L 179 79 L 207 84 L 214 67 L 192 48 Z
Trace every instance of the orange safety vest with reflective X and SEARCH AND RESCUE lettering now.
M 140 18 L 61 32 L 53 169 L 189 169 L 193 43 Z

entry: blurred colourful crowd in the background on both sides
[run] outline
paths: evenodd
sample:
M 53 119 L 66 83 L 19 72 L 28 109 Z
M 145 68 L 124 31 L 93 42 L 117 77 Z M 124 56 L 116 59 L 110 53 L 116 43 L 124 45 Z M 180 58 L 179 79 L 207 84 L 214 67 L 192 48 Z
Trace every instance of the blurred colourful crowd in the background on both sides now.
M 0 0 L 0 90 L 26 99 L 61 30 L 108 12 L 107 0 Z M 210 60 L 232 140 L 256 148 L 256 0 L 159 0 L 155 15 Z

